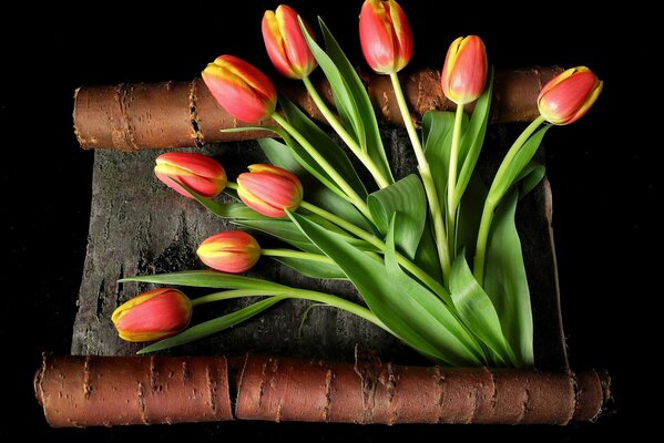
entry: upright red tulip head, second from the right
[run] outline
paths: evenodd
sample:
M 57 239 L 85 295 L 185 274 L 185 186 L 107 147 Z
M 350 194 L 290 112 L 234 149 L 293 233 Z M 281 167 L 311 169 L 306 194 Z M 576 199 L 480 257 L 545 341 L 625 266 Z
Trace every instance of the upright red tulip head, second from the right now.
M 458 38 L 445 58 L 440 85 L 445 95 L 457 104 L 479 99 L 487 83 L 487 50 L 477 35 Z

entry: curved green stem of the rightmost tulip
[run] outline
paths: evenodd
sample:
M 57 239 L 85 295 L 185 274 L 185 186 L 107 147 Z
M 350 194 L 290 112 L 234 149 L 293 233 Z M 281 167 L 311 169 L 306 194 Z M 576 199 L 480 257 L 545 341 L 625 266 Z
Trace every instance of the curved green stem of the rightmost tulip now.
M 503 176 L 509 171 L 510 165 L 523 144 L 528 142 L 528 138 L 540 127 L 540 125 L 544 123 L 544 117 L 541 115 L 538 116 L 531 124 L 528 125 L 525 130 L 519 135 L 519 137 L 510 147 L 507 155 L 504 156 L 498 172 L 496 173 L 496 177 L 493 178 L 493 183 L 491 184 L 491 188 L 489 189 L 489 195 L 487 196 L 487 200 L 484 202 L 484 208 L 482 209 L 482 219 L 480 222 L 480 230 L 478 233 L 478 244 L 474 251 L 474 260 L 473 260 L 473 269 L 472 274 L 474 275 L 476 280 L 480 285 L 483 285 L 484 281 L 484 260 L 487 257 L 487 243 L 489 240 L 489 231 L 491 230 L 491 223 L 493 222 L 493 212 L 496 207 L 500 204 L 504 192 L 499 193 L 498 186 L 502 183 Z

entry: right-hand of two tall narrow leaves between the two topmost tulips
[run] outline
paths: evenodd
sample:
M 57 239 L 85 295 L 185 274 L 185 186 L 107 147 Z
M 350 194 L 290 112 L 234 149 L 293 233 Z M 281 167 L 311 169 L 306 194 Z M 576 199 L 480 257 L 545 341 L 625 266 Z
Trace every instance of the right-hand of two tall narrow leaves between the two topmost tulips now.
M 350 61 L 348 61 L 348 58 L 346 58 L 344 51 L 341 51 L 341 48 L 333 37 L 327 25 L 320 18 L 318 19 L 318 22 L 320 24 L 320 30 L 323 31 L 327 54 L 343 76 L 345 81 L 344 84 L 346 87 L 348 87 L 349 95 L 355 102 L 355 109 L 359 113 L 365 136 L 358 137 L 357 141 L 359 142 L 362 151 L 366 151 L 369 157 L 371 157 L 382 176 L 388 178 L 391 183 L 394 182 L 392 173 L 390 171 L 387 156 L 385 155 L 382 138 L 380 137 L 376 113 L 374 111 L 374 106 L 371 105 L 369 94 L 367 94 L 367 90 L 365 89 L 359 75 L 357 75 L 354 65 L 350 63 Z M 336 100 L 334 87 L 333 94 L 335 95 Z

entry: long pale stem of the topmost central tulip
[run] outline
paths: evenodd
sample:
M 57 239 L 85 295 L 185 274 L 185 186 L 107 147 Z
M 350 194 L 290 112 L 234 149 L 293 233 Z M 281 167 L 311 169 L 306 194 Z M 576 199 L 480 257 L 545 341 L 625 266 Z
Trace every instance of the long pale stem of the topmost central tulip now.
M 440 202 L 438 199 L 438 193 L 436 192 L 436 184 L 433 183 L 431 169 L 429 168 L 429 162 L 427 162 L 427 157 L 425 156 L 425 151 L 422 150 L 417 130 L 415 128 L 412 119 L 410 119 L 410 111 L 408 110 L 408 104 L 403 97 L 403 91 L 401 90 L 401 84 L 399 83 L 399 76 L 395 72 L 390 74 L 390 79 L 392 81 L 392 87 L 395 90 L 397 103 L 399 104 L 399 110 L 401 111 L 401 116 L 403 117 L 406 131 L 410 137 L 415 156 L 417 157 L 420 176 L 422 177 L 422 183 L 425 184 L 429 210 L 431 212 L 431 222 L 433 223 L 433 233 L 436 234 L 438 259 L 440 260 L 440 265 L 442 267 L 442 280 L 446 282 L 450 274 L 451 261 L 447 235 L 445 233 L 445 225 L 442 222 L 442 212 L 440 210 Z

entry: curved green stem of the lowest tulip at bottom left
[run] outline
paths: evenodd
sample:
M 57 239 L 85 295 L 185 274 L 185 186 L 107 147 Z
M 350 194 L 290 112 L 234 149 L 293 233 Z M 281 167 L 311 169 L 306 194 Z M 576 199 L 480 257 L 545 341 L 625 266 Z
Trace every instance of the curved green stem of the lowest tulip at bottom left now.
M 370 321 L 371 323 L 378 326 L 379 328 L 385 329 L 389 333 L 394 333 L 387 326 L 385 326 L 385 323 L 382 321 L 380 321 L 380 319 L 378 317 L 376 317 L 376 315 L 374 312 L 371 312 L 369 309 L 367 309 L 362 306 L 359 306 L 357 303 L 354 303 L 353 301 L 348 301 L 340 297 L 336 297 L 336 296 L 333 296 L 329 293 L 318 292 L 318 291 L 313 291 L 313 290 L 307 290 L 307 289 L 299 289 L 299 288 L 286 287 L 284 289 L 273 289 L 273 290 L 269 290 L 268 293 L 266 293 L 266 290 L 259 290 L 259 289 L 227 290 L 227 291 L 223 291 L 223 292 L 215 292 L 215 293 L 211 293 L 208 296 L 198 297 L 198 298 L 192 300 L 192 306 L 210 303 L 213 301 L 228 300 L 228 299 L 233 299 L 233 298 L 257 297 L 257 296 L 268 296 L 268 297 L 284 296 L 284 297 L 288 297 L 288 298 L 297 298 L 297 299 L 302 299 L 302 300 L 309 300 L 309 301 L 315 301 L 318 303 L 325 303 L 325 305 L 331 306 L 334 308 L 341 309 L 347 312 L 354 313 L 367 321 Z

